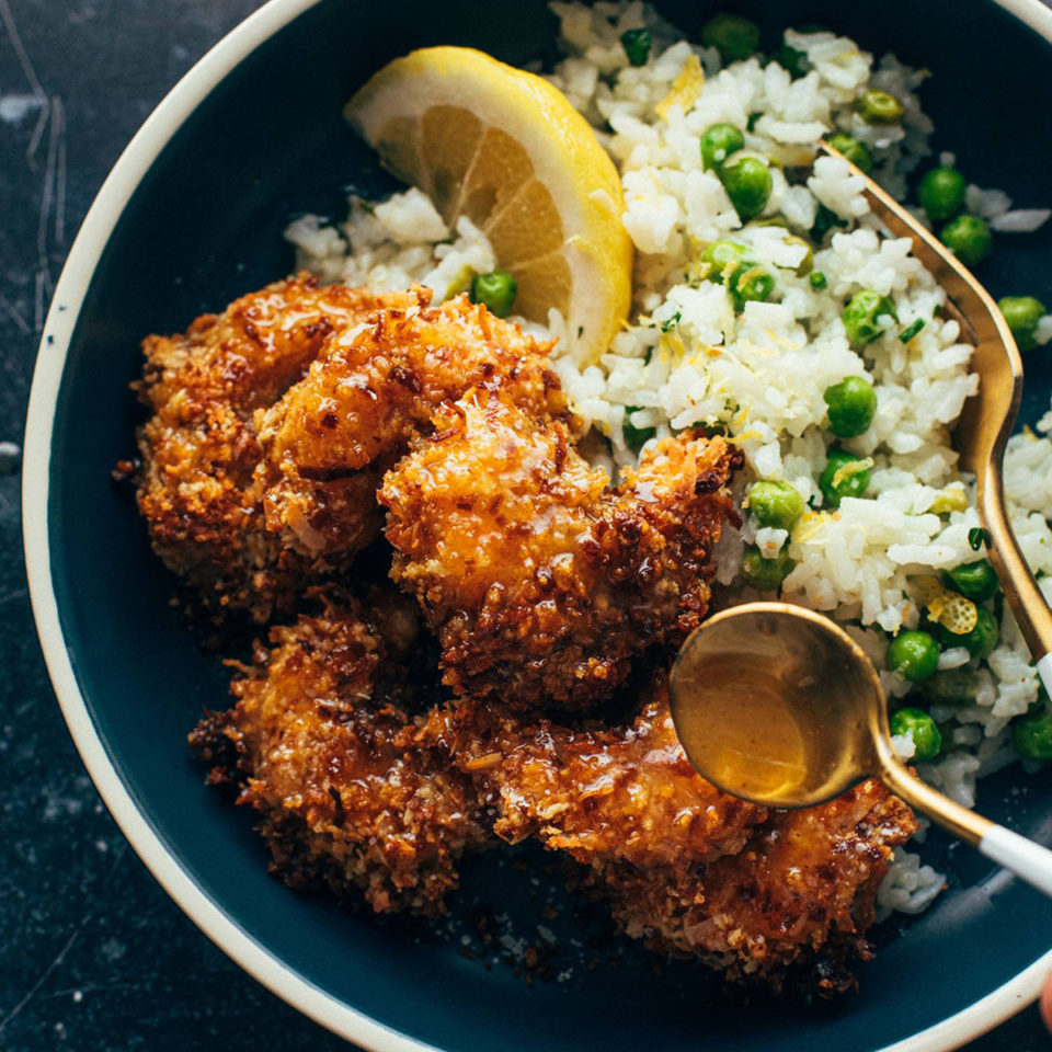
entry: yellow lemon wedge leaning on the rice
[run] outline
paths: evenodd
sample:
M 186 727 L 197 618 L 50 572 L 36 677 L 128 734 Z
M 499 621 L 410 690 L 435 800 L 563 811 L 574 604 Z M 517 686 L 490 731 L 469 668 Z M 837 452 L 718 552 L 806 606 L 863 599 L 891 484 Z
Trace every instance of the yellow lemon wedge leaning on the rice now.
M 621 181 L 562 92 L 482 52 L 428 47 L 385 66 L 344 115 L 447 222 L 482 229 L 518 283 L 515 313 L 547 322 L 554 307 L 576 355 L 607 348 L 631 300 Z

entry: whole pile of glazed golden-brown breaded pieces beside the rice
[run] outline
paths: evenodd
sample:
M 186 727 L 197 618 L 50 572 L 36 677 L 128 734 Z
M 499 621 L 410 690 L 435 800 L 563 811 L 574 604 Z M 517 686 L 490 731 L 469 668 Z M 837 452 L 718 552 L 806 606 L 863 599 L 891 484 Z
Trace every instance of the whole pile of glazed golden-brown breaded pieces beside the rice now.
M 662 666 L 736 521 L 732 444 L 652 442 L 611 485 L 578 451 L 548 346 L 422 289 L 294 277 L 144 350 L 153 546 L 209 617 L 271 626 L 191 745 L 259 814 L 275 872 L 433 916 L 465 854 L 536 838 L 659 953 L 850 985 L 910 810 L 877 782 L 810 811 L 736 800 L 668 714 Z M 355 595 L 385 525 L 408 595 Z M 437 702 L 421 621 L 453 689 Z M 611 717 L 637 666 L 650 686 Z

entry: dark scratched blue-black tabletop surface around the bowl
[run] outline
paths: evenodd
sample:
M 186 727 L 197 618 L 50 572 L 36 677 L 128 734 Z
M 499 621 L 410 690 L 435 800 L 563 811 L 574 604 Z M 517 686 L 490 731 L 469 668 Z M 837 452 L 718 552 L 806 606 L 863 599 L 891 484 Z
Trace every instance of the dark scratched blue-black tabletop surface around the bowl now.
M 0 0 L 0 443 L 22 441 L 50 289 L 106 172 L 164 92 L 258 5 Z M 37 645 L 19 484 L 0 447 L 0 1049 L 347 1048 L 216 949 L 100 802 Z M 1049 1043 L 1030 1008 L 970 1052 Z

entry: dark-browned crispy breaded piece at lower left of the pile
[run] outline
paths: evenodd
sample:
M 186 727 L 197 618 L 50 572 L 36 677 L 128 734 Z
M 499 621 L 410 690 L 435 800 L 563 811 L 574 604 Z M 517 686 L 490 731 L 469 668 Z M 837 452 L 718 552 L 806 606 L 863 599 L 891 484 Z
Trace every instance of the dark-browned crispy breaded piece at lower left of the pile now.
M 325 885 L 378 912 L 441 910 L 457 860 L 487 839 L 468 778 L 415 735 L 402 662 L 415 614 L 390 596 L 330 598 L 271 632 L 235 679 L 237 706 L 192 744 L 216 780 L 262 815 L 273 866 L 293 887 Z

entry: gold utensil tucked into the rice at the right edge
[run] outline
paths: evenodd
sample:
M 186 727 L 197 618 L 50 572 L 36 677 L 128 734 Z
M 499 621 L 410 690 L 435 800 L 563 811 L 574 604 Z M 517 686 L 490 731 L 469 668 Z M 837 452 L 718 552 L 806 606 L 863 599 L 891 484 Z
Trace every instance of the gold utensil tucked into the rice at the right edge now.
M 986 527 L 986 550 L 1005 598 L 1052 695 L 1052 609 L 1030 572 L 1005 514 L 1002 461 L 1022 398 L 1022 362 L 1004 316 L 990 293 L 929 230 L 887 194 L 865 172 L 827 142 L 820 148 L 845 161 L 853 175 L 866 180 L 866 198 L 873 215 L 900 238 L 913 241 L 913 255 L 947 295 L 946 312 L 975 347 L 972 368 L 979 392 L 964 403 L 953 433 L 960 464 L 975 476 L 979 516 Z

